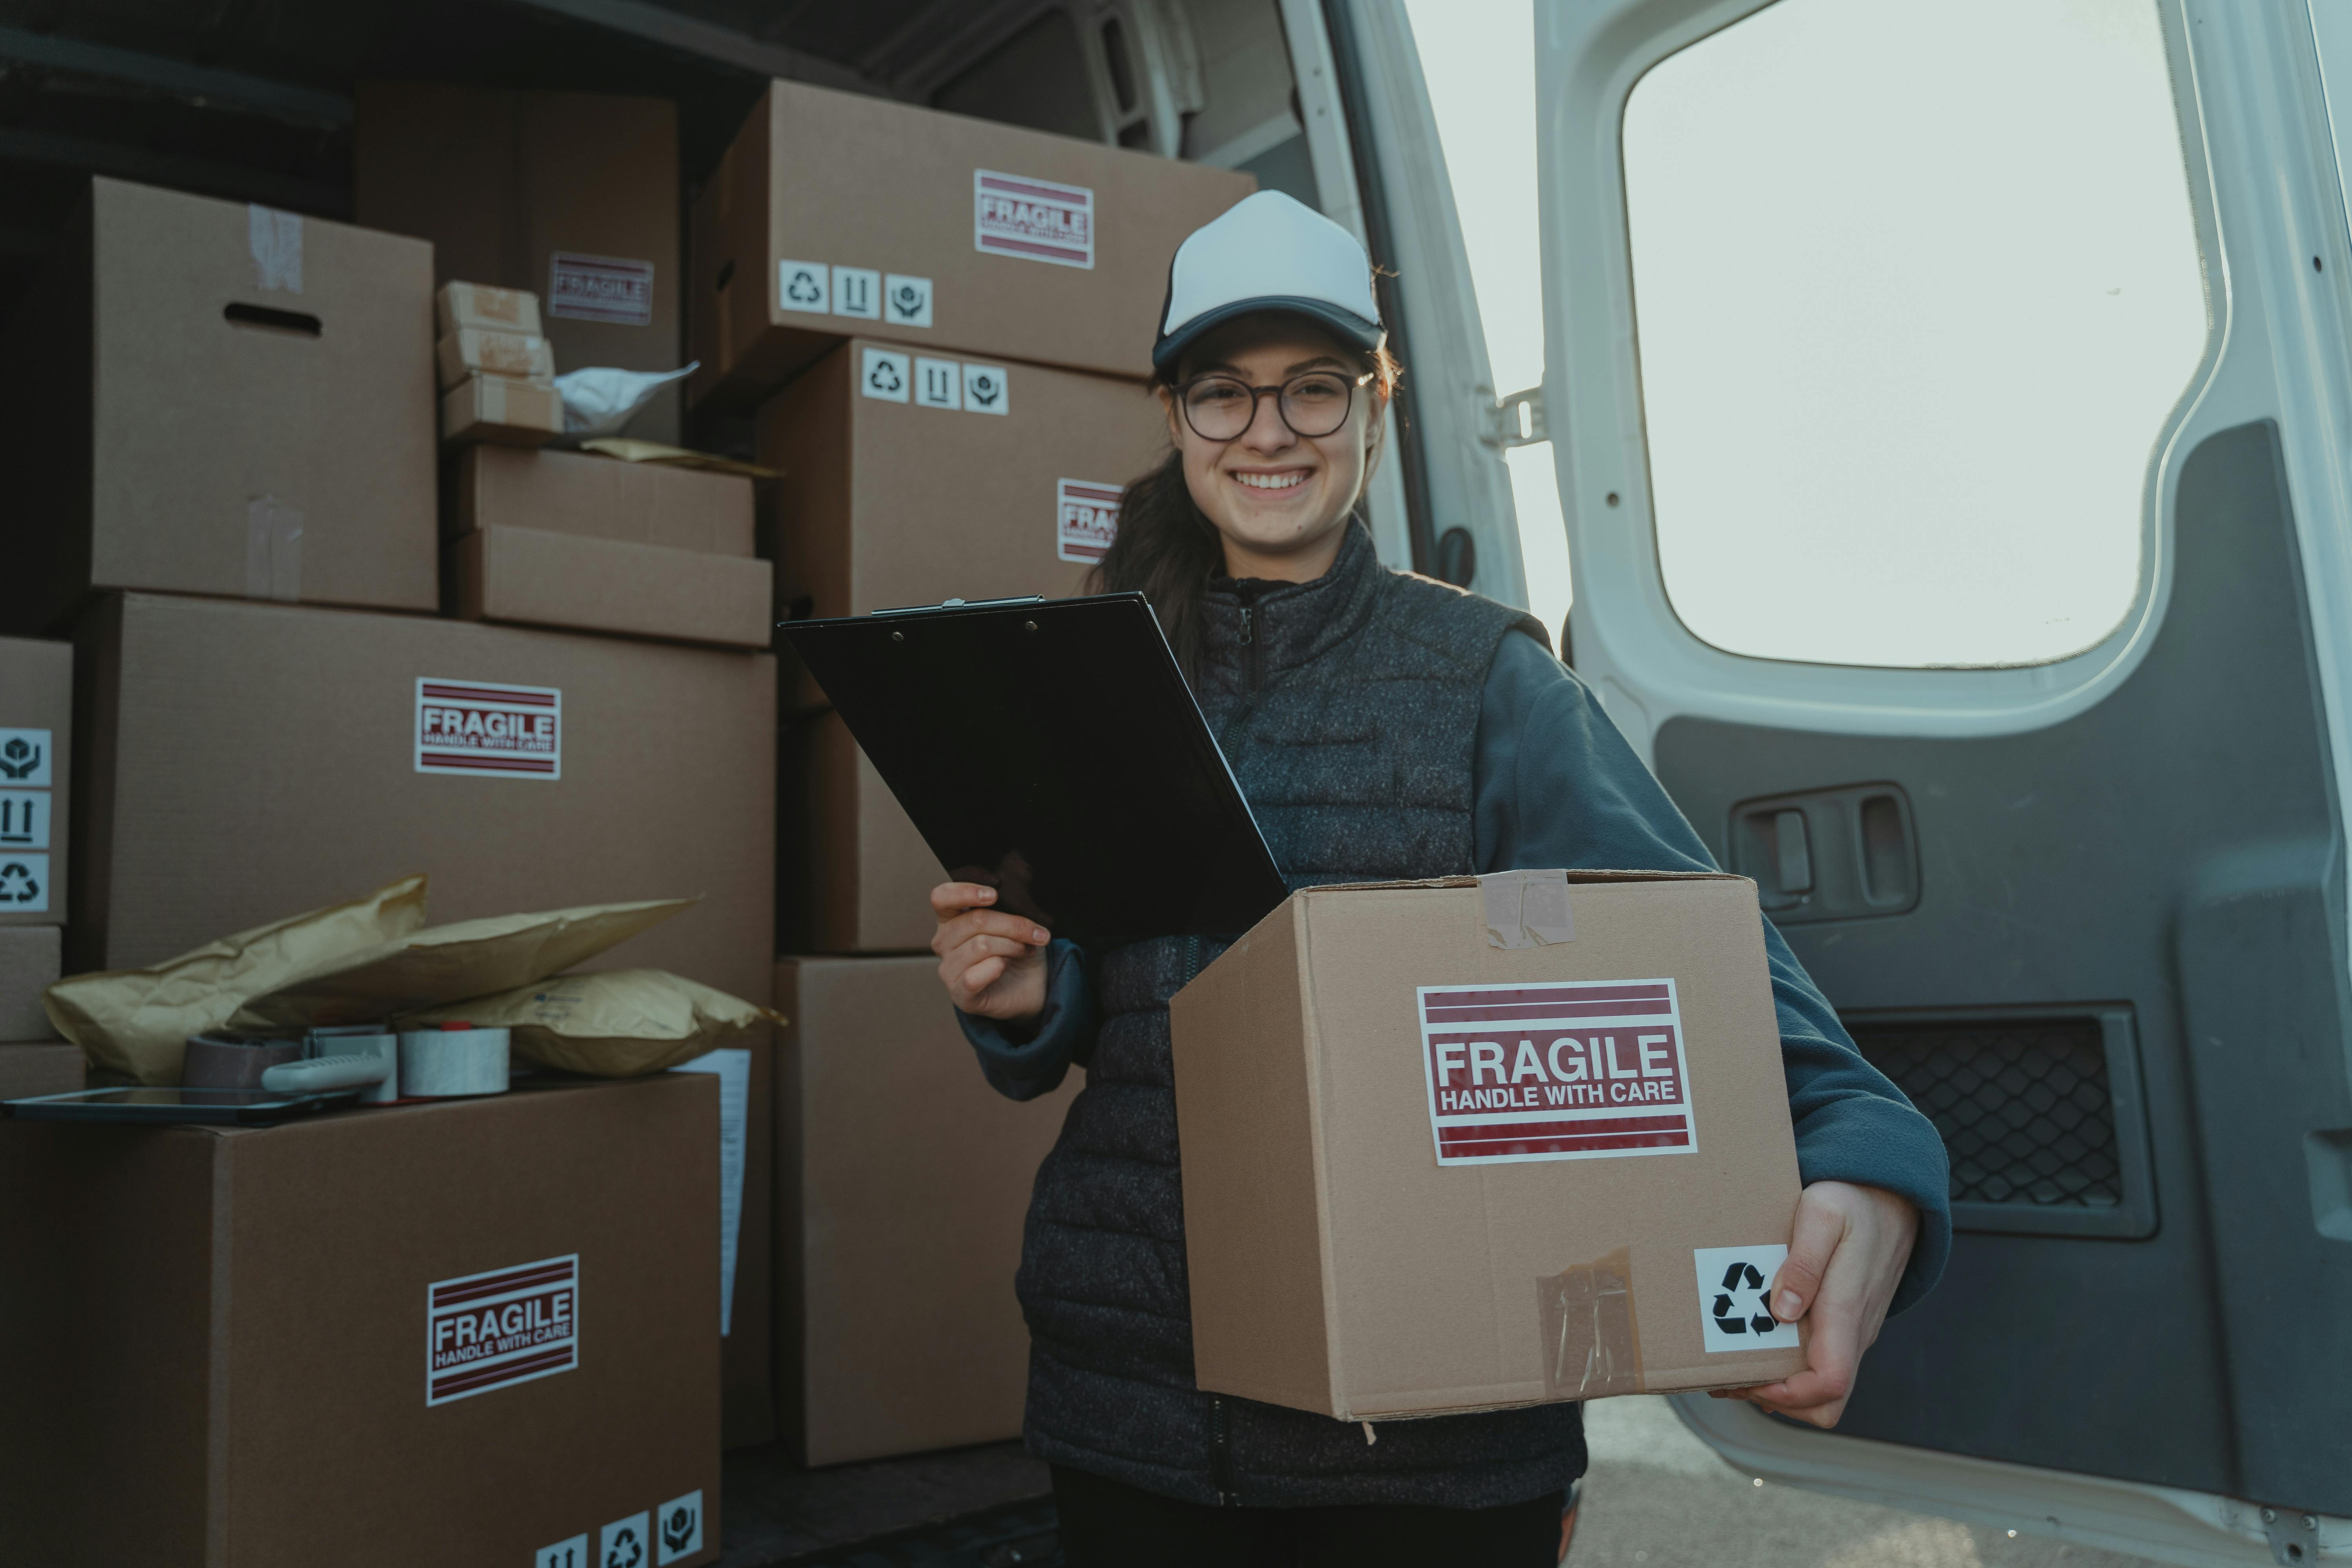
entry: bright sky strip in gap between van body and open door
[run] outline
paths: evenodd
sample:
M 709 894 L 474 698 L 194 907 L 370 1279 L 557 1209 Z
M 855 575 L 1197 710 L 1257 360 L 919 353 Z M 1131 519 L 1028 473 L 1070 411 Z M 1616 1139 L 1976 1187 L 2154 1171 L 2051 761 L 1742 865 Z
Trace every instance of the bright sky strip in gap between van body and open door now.
M 1494 388 L 1498 395 L 1517 393 L 1543 381 L 1531 0 L 1406 0 L 1404 9 L 1437 110 Z M 1557 637 L 1569 614 L 1569 541 L 1559 522 L 1552 447 L 1517 447 L 1505 461 L 1519 510 L 1529 609 Z

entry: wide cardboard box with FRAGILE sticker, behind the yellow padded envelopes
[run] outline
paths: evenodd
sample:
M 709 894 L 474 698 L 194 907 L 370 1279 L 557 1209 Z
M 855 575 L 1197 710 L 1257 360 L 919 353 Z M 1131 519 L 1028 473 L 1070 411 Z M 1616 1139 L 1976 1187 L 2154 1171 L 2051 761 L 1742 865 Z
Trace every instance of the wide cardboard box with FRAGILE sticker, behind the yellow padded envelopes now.
M 600 964 L 764 999 L 769 656 L 153 595 L 99 604 L 78 651 L 71 971 L 428 872 L 433 922 L 699 893 Z

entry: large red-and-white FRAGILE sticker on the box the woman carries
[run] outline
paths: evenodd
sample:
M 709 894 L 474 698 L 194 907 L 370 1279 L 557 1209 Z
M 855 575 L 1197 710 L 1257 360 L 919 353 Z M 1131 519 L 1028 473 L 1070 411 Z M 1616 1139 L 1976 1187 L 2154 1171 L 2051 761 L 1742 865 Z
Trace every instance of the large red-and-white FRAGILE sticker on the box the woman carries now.
M 1672 980 L 1423 985 L 1418 997 L 1437 1164 L 1698 1147 Z

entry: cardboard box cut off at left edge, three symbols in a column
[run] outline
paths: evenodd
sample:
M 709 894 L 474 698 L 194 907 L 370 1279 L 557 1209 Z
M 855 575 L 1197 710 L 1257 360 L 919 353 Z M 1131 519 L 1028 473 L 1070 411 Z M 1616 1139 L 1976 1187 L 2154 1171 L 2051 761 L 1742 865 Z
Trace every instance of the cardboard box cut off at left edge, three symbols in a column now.
M 0 929 L 66 924 L 71 816 L 73 644 L 0 637 Z

